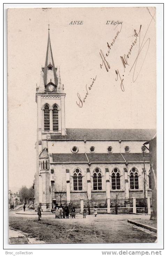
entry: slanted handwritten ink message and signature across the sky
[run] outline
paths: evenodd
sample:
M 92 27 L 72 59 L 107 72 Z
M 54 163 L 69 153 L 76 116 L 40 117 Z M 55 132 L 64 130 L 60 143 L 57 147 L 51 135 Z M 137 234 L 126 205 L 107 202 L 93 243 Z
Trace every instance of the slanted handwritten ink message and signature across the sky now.
M 150 46 L 150 38 L 149 37 L 146 38 L 146 34 L 149 30 L 149 27 L 151 25 L 152 20 L 154 19 L 154 16 L 155 16 L 155 13 L 152 16 L 151 21 L 149 23 L 149 26 L 147 27 L 145 32 L 142 31 L 142 25 L 139 25 L 138 30 L 134 29 L 134 41 L 131 43 L 131 46 L 129 47 L 127 52 L 124 53 L 122 56 L 120 56 L 123 72 L 121 72 L 122 71 L 121 68 L 115 68 L 115 74 L 116 74 L 115 81 L 120 83 L 120 88 L 121 88 L 122 92 L 125 91 L 124 79 L 125 79 L 125 75 L 126 75 L 126 68 L 129 66 L 129 68 L 130 68 L 129 73 L 132 72 L 132 82 L 133 83 L 135 83 L 135 81 L 137 80 L 137 78 L 138 78 L 138 76 L 141 72 L 141 69 L 143 67 L 143 64 L 144 64 L 144 61 L 145 61 L 145 58 L 146 58 L 146 55 L 147 55 L 147 52 L 148 52 L 149 46 Z M 111 43 L 107 42 L 106 53 L 104 54 L 104 51 L 101 50 L 101 49 L 100 49 L 100 52 L 99 52 L 100 58 L 101 58 L 100 68 L 101 69 L 105 68 L 105 70 L 107 72 L 109 71 L 109 69 L 111 69 L 111 64 L 110 64 L 110 61 L 109 61 L 109 57 L 110 57 L 111 52 L 112 52 L 112 47 L 116 43 L 117 38 L 118 38 L 118 36 L 121 32 L 122 24 L 117 25 L 117 27 L 118 27 L 117 32 L 116 32 L 114 38 L 111 40 Z M 142 38 L 142 35 L 141 35 L 142 32 L 143 32 L 143 38 Z M 136 48 L 136 47 L 138 47 L 137 56 L 135 57 L 135 60 L 132 61 L 132 65 L 130 65 L 129 60 L 131 59 L 131 53 L 133 52 L 133 49 Z M 142 55 L 141 54 L 142 51 L 145 52 L 145 54 Z M 140 56 L 140 55 L 142 55 L 142 56 Z M 140 65 L 137 65 L 139 56 L 142 59 L 140 58 Z M 91 90 L 91 88 L 92 88 L 94 82 L 96 81 L 96 79 L 97 79 L 97 75 L 96 75 L 95 78 L 93 78 L 92 83 L 89 86 L 89 90 Z M 83 107 L 83 103 L 85 103 L 85 101 L 86 101 L 86 99 L 89 95 L 87 85 L 86 85 L 85 88 L 86 88 L 86 93 L 85 93 L 85 97 L 83 99 L 81 99 L 80 94 L 77 93 L 76 104 L 80 108 Z

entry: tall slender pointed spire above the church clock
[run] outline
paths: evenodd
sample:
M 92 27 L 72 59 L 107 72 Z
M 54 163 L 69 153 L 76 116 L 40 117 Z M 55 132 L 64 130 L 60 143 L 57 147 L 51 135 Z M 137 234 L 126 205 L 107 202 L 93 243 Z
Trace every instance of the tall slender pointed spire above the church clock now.
M 50 80 L 52 79 L 52 83 L 58 86 L 58 78 L 56 75 L 56 68 L 54 66 L 52 48 L 51 48 L 51 40 L 50 40 L 50 28 L 48 24 L 48 41 L 47 41 L 47 51 L 46 51 L 46 60 L 44 67 L 44 85 L 46 86 Z

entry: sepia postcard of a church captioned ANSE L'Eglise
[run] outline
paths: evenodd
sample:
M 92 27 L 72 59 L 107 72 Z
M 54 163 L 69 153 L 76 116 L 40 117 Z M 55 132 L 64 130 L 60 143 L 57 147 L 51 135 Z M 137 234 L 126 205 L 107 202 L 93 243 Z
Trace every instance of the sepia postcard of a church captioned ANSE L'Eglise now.
M 9 244 L 156 243 L 156 8 L 9 8 Z

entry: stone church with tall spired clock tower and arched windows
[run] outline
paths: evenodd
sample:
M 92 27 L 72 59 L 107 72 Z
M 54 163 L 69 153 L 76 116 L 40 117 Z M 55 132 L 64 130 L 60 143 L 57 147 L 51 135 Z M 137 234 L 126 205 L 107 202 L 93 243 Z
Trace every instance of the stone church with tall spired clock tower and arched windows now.
M 56 63 L 57 65 L 57 63 Z M 64 86 L 54 64 L 50 29 L 45 67 L 36 88 L 35 207 L 56 201 L 151 197 L 152 129 L 66 128 Z

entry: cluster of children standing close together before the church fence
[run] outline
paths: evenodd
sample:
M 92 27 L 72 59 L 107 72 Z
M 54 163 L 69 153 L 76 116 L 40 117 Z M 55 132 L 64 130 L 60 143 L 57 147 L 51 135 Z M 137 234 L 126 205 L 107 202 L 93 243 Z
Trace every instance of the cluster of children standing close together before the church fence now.
M 75 218 L 75 207 L 69 203 L 68 205 L 58 205 L 55 206 L 55 218 L 69 218 L 69 215 L 72 218 Z

